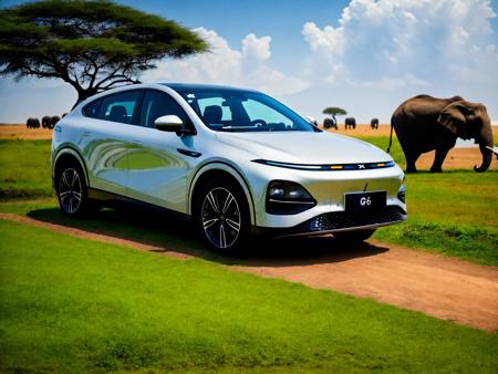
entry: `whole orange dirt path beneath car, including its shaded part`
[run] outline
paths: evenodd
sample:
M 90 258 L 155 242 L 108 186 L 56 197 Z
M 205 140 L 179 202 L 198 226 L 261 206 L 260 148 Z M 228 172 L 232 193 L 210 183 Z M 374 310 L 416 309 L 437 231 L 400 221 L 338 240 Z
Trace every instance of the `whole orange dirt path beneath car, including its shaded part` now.
M 176 247 L 168 250 L 164 243 L 144 243 L 25 216 L 0 214 L 0 219 L 175 258 L 203 257 L 198 249 Z M 280 249 L 269 253 L 270 248 L 274 249 L 276 246 L 280 246 Z M 293 239 L 278 245 L 277 241 L 270 241 L 268 247 L 255 257 L 235 260 L 236 264 L 231 263 L 234 260 L 227 261 L 227 266 L 236 271 L 372 298 L 486 331 L 498 330 L 496 267 L 478 266 L 376 241 L 353 248 L 334 248 L 326 238 Z M 300 248 L 298 251 L 297 247 Z

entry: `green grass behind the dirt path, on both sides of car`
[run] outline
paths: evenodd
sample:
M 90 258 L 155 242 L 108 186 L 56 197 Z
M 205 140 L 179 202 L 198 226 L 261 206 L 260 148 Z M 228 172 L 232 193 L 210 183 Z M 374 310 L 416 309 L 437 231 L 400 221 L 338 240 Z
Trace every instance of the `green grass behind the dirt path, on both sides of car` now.
M 384 149 L 388 144 L 386 136 L 363 139 Z M 391 154 L 403 167 L 404 156 L 396 141 Z M 53 197 L 49 157 L 50 141 L 0 142 L 0 200 L 3 200 L 0 210 L 29 214 L 40 204 L 23 202 L 21 198 Z M 377 230 L 374 238 L 478 263 L 498 264 L 497 172 L 418 173 L 407 175 L 406 184 L 408 221 Z M 43 204 L 44 208 L 54 206 L 54 199 Z

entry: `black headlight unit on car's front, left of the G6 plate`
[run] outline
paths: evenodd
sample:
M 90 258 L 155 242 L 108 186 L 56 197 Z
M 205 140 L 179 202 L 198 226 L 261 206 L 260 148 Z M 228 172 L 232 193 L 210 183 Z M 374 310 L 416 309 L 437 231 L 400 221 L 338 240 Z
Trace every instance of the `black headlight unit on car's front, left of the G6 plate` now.
M 288 180 L 272 180 L 267 190 L 267 212 L 295 215 L 317 205 L 317 200 L 301 185 Z

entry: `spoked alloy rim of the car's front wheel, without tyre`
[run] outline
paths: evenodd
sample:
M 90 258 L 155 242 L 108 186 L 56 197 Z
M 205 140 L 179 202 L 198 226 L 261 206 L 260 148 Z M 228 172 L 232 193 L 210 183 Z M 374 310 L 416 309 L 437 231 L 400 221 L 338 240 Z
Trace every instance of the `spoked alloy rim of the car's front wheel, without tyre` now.
M 201 206 L 201 222 L 206 237 L 215 247 L 232 247 L 241 229 L 241 212 L 234 194 L 222 187 L 209 190 Z

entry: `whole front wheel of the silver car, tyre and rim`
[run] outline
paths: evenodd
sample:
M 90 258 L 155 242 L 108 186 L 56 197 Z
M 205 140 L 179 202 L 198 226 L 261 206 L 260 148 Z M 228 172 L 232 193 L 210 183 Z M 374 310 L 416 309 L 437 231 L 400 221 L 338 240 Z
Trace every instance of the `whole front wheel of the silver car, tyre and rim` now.
M 226 178 L 206 184 L 196 200 L 196 226 L 211 250 L 240 254 L 250 236 L 250 215 L 241 187 Z

